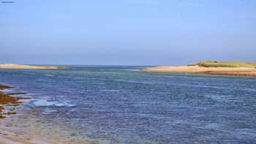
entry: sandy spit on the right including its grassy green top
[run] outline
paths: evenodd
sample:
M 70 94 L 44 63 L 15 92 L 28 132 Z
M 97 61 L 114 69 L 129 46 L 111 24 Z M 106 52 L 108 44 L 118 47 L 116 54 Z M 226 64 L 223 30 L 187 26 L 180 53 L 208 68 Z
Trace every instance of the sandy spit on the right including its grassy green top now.
M 256 76 L 256 64 L 236 61 L 200 61 L 179 67 L 147 67 L 149 72 L 187 72 L 208 75 Z

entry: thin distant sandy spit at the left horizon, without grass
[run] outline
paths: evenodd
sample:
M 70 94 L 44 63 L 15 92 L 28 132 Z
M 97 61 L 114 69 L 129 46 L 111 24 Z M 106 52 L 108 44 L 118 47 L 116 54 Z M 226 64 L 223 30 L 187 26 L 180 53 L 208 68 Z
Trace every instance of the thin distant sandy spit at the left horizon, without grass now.
M 23 64 L 0 64 L 0 69 L 59 69 L 59 67 L 31 66 Z

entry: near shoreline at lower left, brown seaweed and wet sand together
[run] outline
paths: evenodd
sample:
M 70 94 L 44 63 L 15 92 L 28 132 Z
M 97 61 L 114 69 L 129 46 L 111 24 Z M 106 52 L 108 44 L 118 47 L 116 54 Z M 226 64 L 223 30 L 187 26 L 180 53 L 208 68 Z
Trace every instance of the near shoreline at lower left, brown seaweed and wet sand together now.
M 21 108 L 29 99 L 25 93 L 4 93 L 12 88 L 0 85 L 0 144 L 90 144 L 83 137 L 70 135 L 75 129 L 65 129 L 59 125 L 40 123 L 34 109 Z M 22 96 L 18 96 L 22 95 Z M 47 119 L 47 118 L 46 118 Z

